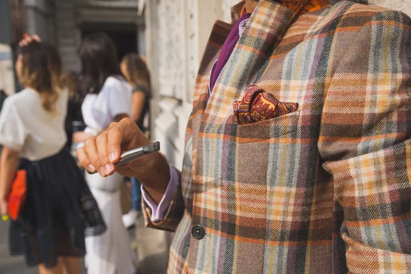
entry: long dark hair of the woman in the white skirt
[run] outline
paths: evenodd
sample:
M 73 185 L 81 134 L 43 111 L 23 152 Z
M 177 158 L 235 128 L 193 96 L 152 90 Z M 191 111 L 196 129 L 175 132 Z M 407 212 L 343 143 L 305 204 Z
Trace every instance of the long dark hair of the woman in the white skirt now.
M 113 40 L 103 32 L 89 34 L 78 49 L 82 60 L 79 90 L 83 94 L 98 94 L 105 79 L 120 76 L 120 64 Z

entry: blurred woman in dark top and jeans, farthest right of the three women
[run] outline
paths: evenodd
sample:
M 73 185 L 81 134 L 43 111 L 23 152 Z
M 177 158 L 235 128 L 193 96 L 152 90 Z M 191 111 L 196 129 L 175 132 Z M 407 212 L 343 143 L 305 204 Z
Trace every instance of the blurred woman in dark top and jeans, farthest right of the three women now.
M 150 75 L 145 62 L 137 53 L 128 53 L 121 61 L 121 72 L 127 81 L 133 86 L 133 120 L 142 132 L 149 137 L 149 126 L 144 124 L 150 110 Z M 132 183 L 132 208 L 123 215 L 125 227 L 132 227 L 141 213 L 140 182 L 135 177 L 130 178 Z

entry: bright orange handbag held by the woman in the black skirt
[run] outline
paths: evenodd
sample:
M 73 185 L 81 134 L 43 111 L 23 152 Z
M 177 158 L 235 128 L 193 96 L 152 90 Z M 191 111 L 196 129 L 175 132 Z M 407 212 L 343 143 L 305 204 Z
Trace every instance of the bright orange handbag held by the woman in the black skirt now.
M 26 180 L 27 172 L 24 169 L 17 171 L 8 196 L 8 213 L 14 221 L 17 220 L 25 203 L 27 190 Z

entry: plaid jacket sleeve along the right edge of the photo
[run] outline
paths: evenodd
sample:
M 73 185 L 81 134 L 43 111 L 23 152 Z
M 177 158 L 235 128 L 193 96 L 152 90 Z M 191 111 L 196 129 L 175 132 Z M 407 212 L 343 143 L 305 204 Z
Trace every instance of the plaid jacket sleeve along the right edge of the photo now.
M 379 12 L 334 60 L 319 150 L 350 273 L 411 271 L 411 19 Z

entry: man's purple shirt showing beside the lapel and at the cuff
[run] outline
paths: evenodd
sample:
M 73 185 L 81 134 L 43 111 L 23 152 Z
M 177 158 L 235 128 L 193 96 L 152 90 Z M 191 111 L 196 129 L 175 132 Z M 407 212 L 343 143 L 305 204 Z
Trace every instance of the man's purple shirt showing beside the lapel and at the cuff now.
M 241 16 L 240 19 L 238 19 L 236 25 L 234 25 L 232 31 L 227 36 L 227 39 L 225 39 L 223 47 L 221 47 L 219 59 L 217 59 L 211 69 L 210 85 L 208 87 L 209 96 L 211 95 L 214 85 L 219 79 L 221 71 L 223 71 L 225 64 L 227 64 L 229 56 L 232 54 L 234 47 L 236 47 L 238 39 L 240 39 L 242 31 L 244 30 L 249 18 L 250 14 L 244 14 L 243 16 Z M 152 222 L 160 222 L 164 219 L 164 216 L 166 216 L 167 210 L 171 205 L 171 201 L 173 200 L 174 193 L 177 190 L 178 175 L 172 166 L 170 166 L 170 176 L 169 186 L 167 186 L 166 192 L 164 193 L 164 196 L 162 197 L 159 204 L 155 203 L 155 201 L 151 199 L 150 195 L 145 192 L 144 188 L 142 188 L 141 185 L 142 199 L 145 200 L 147 206 L 149 206 L 152 210 Z

